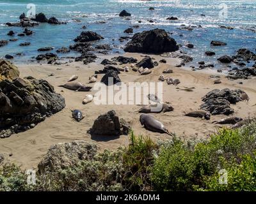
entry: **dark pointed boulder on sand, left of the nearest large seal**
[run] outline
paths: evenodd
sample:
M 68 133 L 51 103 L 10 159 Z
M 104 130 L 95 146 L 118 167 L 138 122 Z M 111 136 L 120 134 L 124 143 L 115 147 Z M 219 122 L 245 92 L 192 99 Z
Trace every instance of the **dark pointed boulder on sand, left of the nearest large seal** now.
M 128 135 L 129 125 L 125 120 L 119 119 L 115 110 L 100 115 L 93 123 L 89 133 L 91 135 L 120 136 Z

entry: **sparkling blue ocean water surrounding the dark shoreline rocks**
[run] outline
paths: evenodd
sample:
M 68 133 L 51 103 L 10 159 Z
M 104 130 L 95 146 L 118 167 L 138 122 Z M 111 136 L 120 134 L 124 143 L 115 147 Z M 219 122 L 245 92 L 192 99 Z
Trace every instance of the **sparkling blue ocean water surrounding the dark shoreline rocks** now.
M 233 55 L 239 48 L 249 48 L 253 52 L 256 49 L 256 0 L 0 0 L 0 40 L 10 39 L 11 37 L 6 35 L 10 30 L 17 33 L 24 30 L 22 27 L 8 27 L 4 23 L 19 20 L 21 13 L 27 13 L 29 3 L 35 4 L 36 13 L 43 12 L 47 17 L 54 16 L 61 21 L 67 21 L 68 24 L 40 24 L 32 27 L 31 30 L 35 32 L 33 36 L 15 36 L 19 38 L 18 41 L 0 47 L 0 57 L 12 54 L 15 56 L 13 61 L 24 63 L 38 55 L 36 50 L 40 47 L 68 47 L 83 31 L 83 25 L 87 27 L 85 31 L 95 31 L 104 36 L 105 39 L 99 44 L 109 43 L 113 47 L 111 52 L 118 51 L 121 54 L 127 41 L 120 43 L 118 38 L 128 35 L 124 33 L 128 27 L 140 25 L 139 29 L 134 29 L 134 33 L 154 28 L 165 29 L 177 43 L 184 45 L 190 42 L 195 45 L 193 49 L 181 48 L 194 58 L 191 64 L 203 60 L 213 62 L 217 68 L 221 67 L 216 61 L 220 55 Z M 227 6 L 227 15 L 220 15 L 223 5 Z M 150 6 L 155 10 L 148 10 Z M 124 9 L 132 14 L 131 20 L 118 17 L 118 13 Z M 166 20 L 171 16 L 178 17 L 179 20 Z M 154 23 L 148 22 L 150 19 L 154 20 Z M 106 24 L 100 24 L 102 20 L 106 21 Z M 138 20 L 142 22 L 138 23 Z M 182 24 L 202 27 L 193 31 L 177 29 Z M 234 29 L 223 29 L 220 25 L 232 26 Z M 225 41 L 227 46 L 211 47 L 211 40 Z M 31 42 L 31 45 L 20 47 L 19 44 L 24 41 Z M 216 52 L 216 55 L 206 57 L 204 52 L 207 50 Z M 20 57 L 15 55 L 19 52 L 22 52 Z M 70 52 L 63 56 L 74 55 L 78 54 Z

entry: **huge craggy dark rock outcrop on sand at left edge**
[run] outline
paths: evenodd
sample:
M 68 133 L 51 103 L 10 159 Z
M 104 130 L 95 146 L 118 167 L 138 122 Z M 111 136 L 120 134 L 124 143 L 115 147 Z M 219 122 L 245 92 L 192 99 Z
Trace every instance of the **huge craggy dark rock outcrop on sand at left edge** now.
M 0 81 L 0 101 L 2 138 L 26 131 L 65 107 L 65 99 L 52 85 L 33 77 Z

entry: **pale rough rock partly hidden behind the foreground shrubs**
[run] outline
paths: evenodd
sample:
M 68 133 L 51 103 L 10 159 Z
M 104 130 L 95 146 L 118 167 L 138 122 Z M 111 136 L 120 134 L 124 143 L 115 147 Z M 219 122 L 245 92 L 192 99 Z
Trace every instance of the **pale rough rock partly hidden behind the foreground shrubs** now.
M 60 171 L 68 167 L 74 167 L 79 164 L 79 161 L 92 159 L 96 152 L 97 146 L 85 141 L 52 145 L 38 164 L 38 173 L 42 174 L 45 171 Z

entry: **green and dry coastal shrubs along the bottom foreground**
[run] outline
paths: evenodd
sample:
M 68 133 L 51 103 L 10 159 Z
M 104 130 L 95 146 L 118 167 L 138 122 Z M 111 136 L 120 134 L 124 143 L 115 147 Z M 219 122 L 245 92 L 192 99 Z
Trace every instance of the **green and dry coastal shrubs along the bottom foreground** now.
M 154 143 L 131 132 L 128 147 L 36 179 L 28 186 L 19 167 L 0 166 L 1 191 L 256 191 L 256 122 L 198 141 Z

